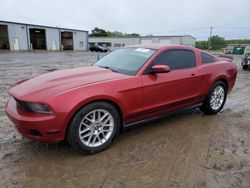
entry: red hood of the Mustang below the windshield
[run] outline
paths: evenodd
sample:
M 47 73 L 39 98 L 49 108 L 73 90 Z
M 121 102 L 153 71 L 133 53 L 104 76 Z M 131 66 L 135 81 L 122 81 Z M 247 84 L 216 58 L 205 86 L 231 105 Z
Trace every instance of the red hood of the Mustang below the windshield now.
M 126 75 L 97 66 L 65 69 L 21 81 L 9 93 L 19 100 L 39 102 L 67 90 L 121 77 Z

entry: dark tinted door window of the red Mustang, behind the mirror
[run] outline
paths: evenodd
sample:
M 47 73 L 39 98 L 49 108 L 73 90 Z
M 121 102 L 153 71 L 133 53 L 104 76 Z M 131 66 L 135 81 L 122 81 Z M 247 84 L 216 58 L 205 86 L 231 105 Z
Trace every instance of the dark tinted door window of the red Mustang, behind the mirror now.
M 191 50 L 168 50 L 154 60 L 156 65 L 168 65 L 171 70 L 195 67 L 195 54 Z

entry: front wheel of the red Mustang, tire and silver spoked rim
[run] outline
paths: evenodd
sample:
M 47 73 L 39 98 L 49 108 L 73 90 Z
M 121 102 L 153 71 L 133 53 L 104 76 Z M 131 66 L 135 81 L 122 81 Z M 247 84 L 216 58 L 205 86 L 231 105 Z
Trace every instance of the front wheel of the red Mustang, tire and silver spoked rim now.
M 67 140 L 78 153 L 93 154 L 108 148 L 120 126 L 116 108 L 106 102 L 83 107 L 72 119 Z

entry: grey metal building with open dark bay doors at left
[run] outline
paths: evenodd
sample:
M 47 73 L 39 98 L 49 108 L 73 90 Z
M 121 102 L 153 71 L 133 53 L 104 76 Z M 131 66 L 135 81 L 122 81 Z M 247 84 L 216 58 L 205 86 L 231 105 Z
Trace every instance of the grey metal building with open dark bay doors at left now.
M 88 50 L 88 31 L 0 21 L 0 50 Z

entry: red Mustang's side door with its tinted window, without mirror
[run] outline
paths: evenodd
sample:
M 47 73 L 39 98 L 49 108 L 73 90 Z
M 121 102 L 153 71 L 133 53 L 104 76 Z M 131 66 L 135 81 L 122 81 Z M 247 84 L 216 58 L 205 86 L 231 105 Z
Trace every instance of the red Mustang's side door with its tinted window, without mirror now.
M 145 113 L 177 109 L 194 102 L 202 82 L 196 77 L 196 57 L 192 50 L 164 51 L 153 64 L 168 65 L 170 72 L 145 73 L 142 76 Z

